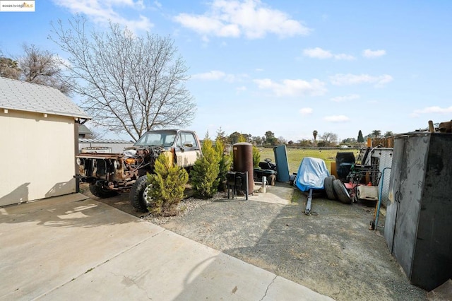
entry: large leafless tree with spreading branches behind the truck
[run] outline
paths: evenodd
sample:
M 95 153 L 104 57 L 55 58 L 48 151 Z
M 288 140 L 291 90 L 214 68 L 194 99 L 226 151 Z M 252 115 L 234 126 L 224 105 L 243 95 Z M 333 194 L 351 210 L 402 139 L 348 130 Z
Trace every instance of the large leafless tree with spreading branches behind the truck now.
M 135 141 L 150 129 L 191 123 L 196 105 L 184 85 L 188 69 L 169 37 L 138 37 L 115 23 L 88 33 L 86 25 L 81 16 L 68 29 L 59 20 L 49 38 L 70 55 L 71 90 L 93 122 Z

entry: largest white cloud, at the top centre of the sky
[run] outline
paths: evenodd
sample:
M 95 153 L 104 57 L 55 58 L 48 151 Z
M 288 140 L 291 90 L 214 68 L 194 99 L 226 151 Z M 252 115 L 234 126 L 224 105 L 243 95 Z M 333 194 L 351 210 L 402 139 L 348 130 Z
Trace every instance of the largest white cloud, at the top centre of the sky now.
M 259 0 L 214 0 L 203 15 L 180 13 L 174 20 L 203 36 L 258 39 L 268 33 L 291 37 L 310 32 L 299 21 Z

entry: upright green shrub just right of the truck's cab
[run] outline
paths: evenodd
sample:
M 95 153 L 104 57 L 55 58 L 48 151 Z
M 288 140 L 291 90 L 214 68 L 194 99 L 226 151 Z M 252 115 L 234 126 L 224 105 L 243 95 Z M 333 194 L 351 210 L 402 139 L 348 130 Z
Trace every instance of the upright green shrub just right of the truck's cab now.
M 218 189 L 221 158 L 208 138 L 204 140 L 202 151 L 203 155 L 196 160 L 190 172 L 191 186 L 200 199 L 210 199 Z

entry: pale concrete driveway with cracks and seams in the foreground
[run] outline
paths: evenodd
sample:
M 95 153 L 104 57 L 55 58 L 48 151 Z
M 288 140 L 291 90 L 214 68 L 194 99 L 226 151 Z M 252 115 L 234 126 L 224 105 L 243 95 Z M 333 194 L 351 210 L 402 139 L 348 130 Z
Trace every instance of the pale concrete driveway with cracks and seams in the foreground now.
M 83 194 L 0 227 L 0 300 L 332 300 Z

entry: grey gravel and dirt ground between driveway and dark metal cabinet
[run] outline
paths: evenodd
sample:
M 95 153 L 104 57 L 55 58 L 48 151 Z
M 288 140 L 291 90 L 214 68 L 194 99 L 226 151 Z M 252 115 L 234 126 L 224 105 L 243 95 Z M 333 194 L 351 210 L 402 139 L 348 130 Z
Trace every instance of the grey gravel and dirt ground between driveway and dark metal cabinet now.
M 369 230 L 374 208 L 314 196 L 316 215 L 306 216 L 307 196 L 294 191 L 294 202 L 286 205 L 224 194 L 161 226 L 335 300 L 427 300 L 426 291 L 410 285 L 381 230 Z M 88 189 L 84 193 L 142 216 L 127 194 L 98 199 Z

